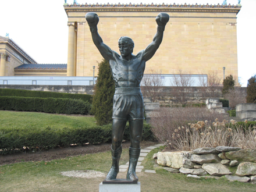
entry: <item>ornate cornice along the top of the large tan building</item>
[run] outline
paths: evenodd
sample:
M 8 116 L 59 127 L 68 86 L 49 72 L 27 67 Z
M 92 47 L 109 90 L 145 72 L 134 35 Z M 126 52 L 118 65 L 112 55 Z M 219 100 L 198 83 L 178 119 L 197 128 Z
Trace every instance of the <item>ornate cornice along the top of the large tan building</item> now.
M 222 12 L 222 13 L 239 13 L 241 5 L 184 5 L 179 4 L 65 4 L 64 9 L 68 12 Z

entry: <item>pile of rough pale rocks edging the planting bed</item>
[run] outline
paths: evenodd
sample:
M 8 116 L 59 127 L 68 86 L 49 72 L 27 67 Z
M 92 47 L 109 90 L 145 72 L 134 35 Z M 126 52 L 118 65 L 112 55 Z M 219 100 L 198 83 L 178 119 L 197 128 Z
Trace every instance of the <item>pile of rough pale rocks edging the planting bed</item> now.
M 172 173 L 180 172 L 195 178 L 208 174 L 216 179 L 225 176 L 230 181 L 256 184 L 256 150 L 225 146 L 203 147 L 193 151 L 158 152 L 154 158 Z M 235 175 L 232 175 L 229 167 L 236 168 Z

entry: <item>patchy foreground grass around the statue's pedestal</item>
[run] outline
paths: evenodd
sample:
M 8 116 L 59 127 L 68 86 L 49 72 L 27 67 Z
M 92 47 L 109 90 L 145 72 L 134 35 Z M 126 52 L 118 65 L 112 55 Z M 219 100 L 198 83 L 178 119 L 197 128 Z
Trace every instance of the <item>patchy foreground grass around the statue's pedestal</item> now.
M 155 149 L 143 161 L 145 169 L 154 169 L 152 154 L 159 151 Z M 128 150 L 123 150 L 120 165 L 128 161 Z M 0 191 L 98 191 L 99 183 L 104 177 L 94 179 L 62 176 L 61 172 L 68 170 L 98 170 L 105 175 L 111 166 L 111 153 L 67 157 L 50 162 L 23 162 L 0 166 Z M 157 173 L 138 173 L 141 182 L 141 191 L 255 191 L 255 185 L 250 183 L 229 182 L 224 178 L 194 179 L 187 178 L 182 173 L 170 173 L 156 168 Z M 119 178 L 125 178 L 122 172 Z

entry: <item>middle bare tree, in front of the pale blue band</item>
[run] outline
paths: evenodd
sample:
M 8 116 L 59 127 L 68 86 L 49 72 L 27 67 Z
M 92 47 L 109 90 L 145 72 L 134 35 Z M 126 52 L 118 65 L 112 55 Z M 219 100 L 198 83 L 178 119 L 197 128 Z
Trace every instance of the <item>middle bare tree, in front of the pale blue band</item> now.
M 170 84 L 173 86 L 172 94 L 177 101 L 184 105 L 187 102 L 187 97 L 191 91 L 191 87 L 194 84 L 191 73 L 185 72 L 181 69 L 178 70 L 177 74 L 174 74 L 170 80 Z

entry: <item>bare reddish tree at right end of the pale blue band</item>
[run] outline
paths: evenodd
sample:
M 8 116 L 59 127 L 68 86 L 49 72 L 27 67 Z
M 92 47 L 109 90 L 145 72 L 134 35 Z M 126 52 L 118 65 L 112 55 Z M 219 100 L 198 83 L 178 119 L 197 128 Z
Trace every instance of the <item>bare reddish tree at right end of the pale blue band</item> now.
M 199 83 L 202 87 L 202 96 L 205 98 L 218 97 L 219 90 L 222 89 L 222 79 L 218 77 L 218 72 L 212 70 L 212 73 L 207 75 L 207 79 L 204 76 L 199 76 Z

